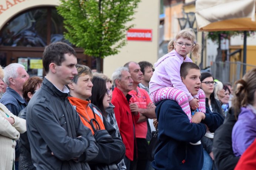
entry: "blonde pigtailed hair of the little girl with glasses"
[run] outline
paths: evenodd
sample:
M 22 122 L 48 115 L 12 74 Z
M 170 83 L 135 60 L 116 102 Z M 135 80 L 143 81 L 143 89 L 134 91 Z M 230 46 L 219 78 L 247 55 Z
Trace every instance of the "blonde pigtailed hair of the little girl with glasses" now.
M 176 42 L 176 40 L 179 38 L 187 38 L 190 41 L 192 41 L 193 46 L 192 46 L 191 52 L 193 57 L 197 60 L 201 55 L 202 45 L 196 42 L 196 34 L 192 28 L 186 28 L 184 30 L 179 31 L 175 39 L 169 42 L 167 46 L 168 52 L 171 52 L 174 49 L 173 43 Z

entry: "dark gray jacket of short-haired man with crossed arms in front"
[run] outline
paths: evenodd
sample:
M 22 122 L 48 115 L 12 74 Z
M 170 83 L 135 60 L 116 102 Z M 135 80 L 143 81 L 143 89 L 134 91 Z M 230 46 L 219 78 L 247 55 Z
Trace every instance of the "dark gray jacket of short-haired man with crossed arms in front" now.
M 98 154 L 92 132 L 67 96 L 45 78 L 29 101 L 27 136 L 37 170 L 88 170 L 87 162 Z

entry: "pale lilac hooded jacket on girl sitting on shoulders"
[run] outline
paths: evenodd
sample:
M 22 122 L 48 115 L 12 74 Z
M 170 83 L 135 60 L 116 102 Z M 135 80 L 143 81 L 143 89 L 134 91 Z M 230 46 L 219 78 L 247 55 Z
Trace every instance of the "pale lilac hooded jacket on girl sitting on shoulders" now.
M 194 97 L 189 93 L 189 90 L 187 90 L 180 78 L 180 66 L 183 62 L 192 62 L 192 60 L 188 56 L 184 60 L 183 56 L 175 50 L 158 59 L 154 63 L 155 70 L 149 82 L 149 93 L 163 87 L 174 87 L 184 91 L 189 101 L 191 101 Z

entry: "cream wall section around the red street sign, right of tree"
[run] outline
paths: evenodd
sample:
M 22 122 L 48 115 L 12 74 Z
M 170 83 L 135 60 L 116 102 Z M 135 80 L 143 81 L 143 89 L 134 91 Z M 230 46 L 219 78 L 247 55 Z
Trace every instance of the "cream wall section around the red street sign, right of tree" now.
M 152 29 L 152 41 L 127 41 L 127 45 L 114 56 L 108 56 L 103 62 L 103 73 L 112 76 L 114 70 L 129 61 L 146 60 L 152 64 L 157 61 L 159 34 L 159 0 L 142 0 L 137 8 L 134 28 Z

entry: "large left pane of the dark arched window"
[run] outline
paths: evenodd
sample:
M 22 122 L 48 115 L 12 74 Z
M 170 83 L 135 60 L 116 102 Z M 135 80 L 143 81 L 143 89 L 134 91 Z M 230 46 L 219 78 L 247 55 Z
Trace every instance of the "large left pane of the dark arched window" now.
M 46 46 L 47 9 L 31 10 L 16 16 L 2 31 L 1 45 Z

